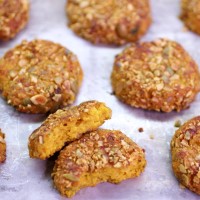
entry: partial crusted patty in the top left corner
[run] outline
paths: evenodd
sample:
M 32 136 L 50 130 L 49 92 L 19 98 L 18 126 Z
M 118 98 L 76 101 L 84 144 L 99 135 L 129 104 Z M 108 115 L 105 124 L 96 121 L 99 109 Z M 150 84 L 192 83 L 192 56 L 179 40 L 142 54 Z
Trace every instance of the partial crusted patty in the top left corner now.
M 14 38 L 28 19 L 28 0 L 0 0 L 0 40 Z

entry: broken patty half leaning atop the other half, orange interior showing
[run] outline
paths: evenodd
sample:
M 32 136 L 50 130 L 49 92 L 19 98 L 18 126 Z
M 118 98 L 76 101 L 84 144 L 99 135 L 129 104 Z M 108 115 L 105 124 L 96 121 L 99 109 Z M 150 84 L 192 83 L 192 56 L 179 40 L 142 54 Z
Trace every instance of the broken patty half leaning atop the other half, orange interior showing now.
M 29 155 L 46 159 L 61 150 L 66 143 L 79 139 L 82 134 L 96 130 L 112 111 L 98 101 L 84 102 L 78 106 L 58 110 L 29 137 Z

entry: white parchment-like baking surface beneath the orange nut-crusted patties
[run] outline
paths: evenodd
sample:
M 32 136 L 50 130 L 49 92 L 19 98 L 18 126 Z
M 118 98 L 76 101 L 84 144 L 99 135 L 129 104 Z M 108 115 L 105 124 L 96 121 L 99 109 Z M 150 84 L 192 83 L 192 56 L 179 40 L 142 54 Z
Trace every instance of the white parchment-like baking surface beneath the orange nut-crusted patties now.
M 183 31 L 178 19 L 179 0 L 152 0 L 153 24 L 142 40 L 167 37 L 181 43 L 200 65 L 200 37 Z M 179 187 L 171 170 L 170 141 L 174 121 L 182 122 L 200 113 L 200 95 L 191 107 L 180 113 L 157 113 L 130 108 L 112 95 L 110 73 L 114 56 L 123 47 L 97 47 L 74 35 L 67 27 L 65 0 L 32 0 L 28 26 L 18 37 L 0 43 L 0 56 L 21 40 L 49 39 L 71 49 L 79 57 L 84 70 L 84 82 L 75 104 L 96 99 L 113 110 L 113 117 L 103 127 L 119 129 L 145 148 L 147 167 L 138 178 L 119 185 L 102 183 L 78 192 L 73 200 L 171 200 L 199 199 L 194 193 Z M 50 177 L 52 161 L 30 159 L 27 141 L 31 132 L 45 119 L 44 115 L 16 112 L 0 99 L 0 127 L 6 133 L 7 160 L 0 165 L 0 199 L 2 200 L 62 200 L 53 188 Z M 138 128 L 144 132 L 139 133 Z M 150 139 L 150 136 L 154 139 Z

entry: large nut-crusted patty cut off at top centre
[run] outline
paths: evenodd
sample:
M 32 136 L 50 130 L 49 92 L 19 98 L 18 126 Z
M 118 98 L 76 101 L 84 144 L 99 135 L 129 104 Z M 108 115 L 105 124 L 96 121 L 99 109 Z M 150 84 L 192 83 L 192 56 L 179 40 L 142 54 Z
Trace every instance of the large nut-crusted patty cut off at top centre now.
M 148 0 L 68 0 L 66 12 L 69 27 L 95 44 L 135 42 L 151 24 Z

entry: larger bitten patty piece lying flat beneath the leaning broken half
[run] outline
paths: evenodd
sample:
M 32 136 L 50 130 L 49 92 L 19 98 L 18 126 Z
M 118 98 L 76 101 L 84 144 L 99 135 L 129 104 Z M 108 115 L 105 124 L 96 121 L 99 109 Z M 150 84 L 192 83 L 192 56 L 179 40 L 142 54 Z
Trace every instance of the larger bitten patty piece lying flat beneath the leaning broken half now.
M 52 178 L 62 195 L 101 182 L 120 183 L 139 176 L 146 166 L 144 150 L 120 131 L 98 129 L 66 146 Z

